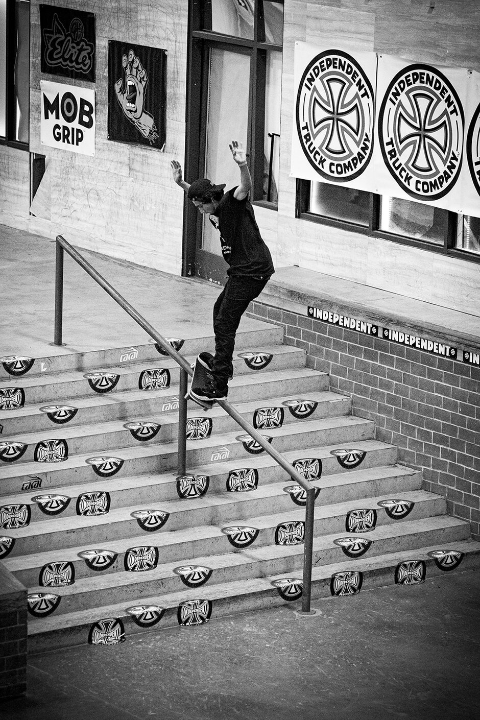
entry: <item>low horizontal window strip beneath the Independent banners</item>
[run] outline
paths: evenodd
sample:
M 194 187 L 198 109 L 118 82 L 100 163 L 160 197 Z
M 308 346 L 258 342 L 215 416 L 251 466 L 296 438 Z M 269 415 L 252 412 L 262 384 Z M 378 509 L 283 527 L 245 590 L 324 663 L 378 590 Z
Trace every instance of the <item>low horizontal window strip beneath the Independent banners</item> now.
M 296 215 L 480 261 L 480 218 L 329 183 L 297 181 Z

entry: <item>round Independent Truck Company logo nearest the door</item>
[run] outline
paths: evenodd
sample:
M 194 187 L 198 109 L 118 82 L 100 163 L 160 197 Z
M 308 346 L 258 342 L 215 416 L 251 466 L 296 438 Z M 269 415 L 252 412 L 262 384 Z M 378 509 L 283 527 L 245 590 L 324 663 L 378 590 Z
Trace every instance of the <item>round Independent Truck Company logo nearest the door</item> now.
M 305 69 L 296 96 L 296 127 L 307 160 L 323 178 L 363 173 L 373 149 L 373 89 L 351 55 L 326 50 Z

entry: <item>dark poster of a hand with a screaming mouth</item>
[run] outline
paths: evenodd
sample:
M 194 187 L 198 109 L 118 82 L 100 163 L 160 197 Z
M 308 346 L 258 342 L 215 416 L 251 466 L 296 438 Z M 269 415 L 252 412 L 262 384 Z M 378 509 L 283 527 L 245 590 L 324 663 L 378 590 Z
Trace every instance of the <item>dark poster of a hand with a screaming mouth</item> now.
M 166 50 L 109 41 L 109 140 L 163 149 L 166 76 Z

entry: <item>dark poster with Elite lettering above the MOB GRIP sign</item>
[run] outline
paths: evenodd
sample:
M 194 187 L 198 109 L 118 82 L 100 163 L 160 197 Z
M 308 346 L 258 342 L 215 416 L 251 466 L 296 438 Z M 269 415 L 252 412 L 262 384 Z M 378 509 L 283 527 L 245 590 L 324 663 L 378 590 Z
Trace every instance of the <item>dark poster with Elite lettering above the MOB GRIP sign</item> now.
M 40 70 L 95 82 L 95 16 L 40 5 Z

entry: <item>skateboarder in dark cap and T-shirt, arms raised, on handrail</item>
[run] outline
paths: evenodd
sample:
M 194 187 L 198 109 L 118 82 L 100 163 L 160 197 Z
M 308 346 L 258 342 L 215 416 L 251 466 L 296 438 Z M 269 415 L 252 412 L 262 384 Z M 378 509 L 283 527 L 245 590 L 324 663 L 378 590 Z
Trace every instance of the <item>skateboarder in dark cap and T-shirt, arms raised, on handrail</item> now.
M 240 168 L 240 184 L 224 192 L 225 184 L 214 185 L 208 179 L 191 185 L 182 176 L 178 161 L 171 162 L 173 180 L 198 207 L 202 215 L 220 233 L 222 255 L 230 266 L 227 283 L 213 308 L 215 354 L 208 359 L 209 374 L 205 387 L 193 387 L 191 395 L 199 400 L 225 400 L 228 380 L 232 377 L 235 333 L 243 313 L 275 272 L 270 251 L 261 238 L 253 207 L 248 200 L 252 179 L 242 143 L 229 145 L 233 160 Z M 202 354 L 204 356 L 204 354 Z

